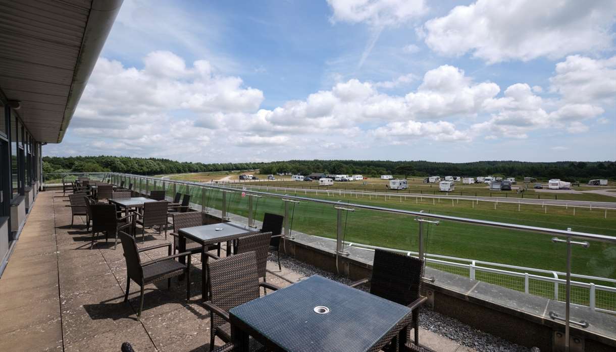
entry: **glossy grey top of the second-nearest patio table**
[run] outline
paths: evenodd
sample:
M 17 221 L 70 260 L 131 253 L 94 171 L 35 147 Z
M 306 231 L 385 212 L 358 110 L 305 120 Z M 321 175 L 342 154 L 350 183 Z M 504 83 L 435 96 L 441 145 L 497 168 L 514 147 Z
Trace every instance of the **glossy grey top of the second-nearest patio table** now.
M 254 231 L 253 228 L 240 223 L 225 222 L 180 228 L 178 234 L 205 246 L 207 244 L 230 241 Z

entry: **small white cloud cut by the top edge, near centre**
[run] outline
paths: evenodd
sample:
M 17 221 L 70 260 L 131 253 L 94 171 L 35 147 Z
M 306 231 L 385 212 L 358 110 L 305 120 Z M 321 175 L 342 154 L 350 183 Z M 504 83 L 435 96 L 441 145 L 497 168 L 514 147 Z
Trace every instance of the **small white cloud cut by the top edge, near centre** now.
M 332 22 L 365 22 L 371 26 L 399 25 L 428 11 L 424 0 L 327 0 Z

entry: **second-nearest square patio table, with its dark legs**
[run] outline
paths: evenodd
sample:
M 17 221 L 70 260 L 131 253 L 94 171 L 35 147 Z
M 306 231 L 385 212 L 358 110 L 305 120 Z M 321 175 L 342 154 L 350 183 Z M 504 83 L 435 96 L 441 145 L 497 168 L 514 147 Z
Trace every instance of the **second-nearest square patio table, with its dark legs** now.
M 208 256 L 205 255 L 205 250 L 210 244 L 227 242 L 227 255 L 231 254 L 229 241 L 238 239 L 248 233 L 253 233 L 255 230 L 246 225 L 233 222 L 213 223 L 210 225 L 193 226 L 180 228 L 179 235 L 179 251 L 180 253 L 186 250 L 186 239 L 191 239 L 203 246 L 201 250 L 201 297 L 206 300 L 208 297 L 208 282 L 206 275 L 206 266 L 208 265 Z M 185 257 L 178 258 L 180 263 L 185 264 Z M 180 276 L 182 279 L 182 276 Z

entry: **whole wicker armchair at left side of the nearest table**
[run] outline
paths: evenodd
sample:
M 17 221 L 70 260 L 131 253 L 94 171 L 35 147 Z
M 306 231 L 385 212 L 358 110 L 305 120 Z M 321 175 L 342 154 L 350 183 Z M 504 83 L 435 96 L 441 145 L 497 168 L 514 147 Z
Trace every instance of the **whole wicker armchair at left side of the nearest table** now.
M 212 351 L 216 336 L 224 342 L 231 340 L 231 308 L 259 298 L 259 287 L 271 290 L 277 290 L 279 287 L 259 282 L 254 252 L 214 260 L 209 263 L 208 272 L 211 300 L 204 304 L 210 313 L 209 350 Z

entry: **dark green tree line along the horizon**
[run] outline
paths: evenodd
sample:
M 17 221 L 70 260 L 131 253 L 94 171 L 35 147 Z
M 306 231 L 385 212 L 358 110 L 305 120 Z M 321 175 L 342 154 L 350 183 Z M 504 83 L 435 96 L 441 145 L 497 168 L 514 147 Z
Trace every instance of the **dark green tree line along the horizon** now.
M 179 162 L 158 158 L 129 158 L 124 156 L 70 156 L 43 158 L 43 172 L 124 172 L 138 175 L 181 174 L 185 172 L 212 172 L 256 170 L 261 174 L 292 173 L 308 175 L 362 174 L 375 177 L 383 174 L 397 176 L 501 176 L 560 178 L 566 181 L 586 182 L 592 178 L 616 178 L 616 162 L 430 162 L 430 161 L 381 161 L 381 160 L 290 160 L 274 162 L 240 162 L 204 164 Z

